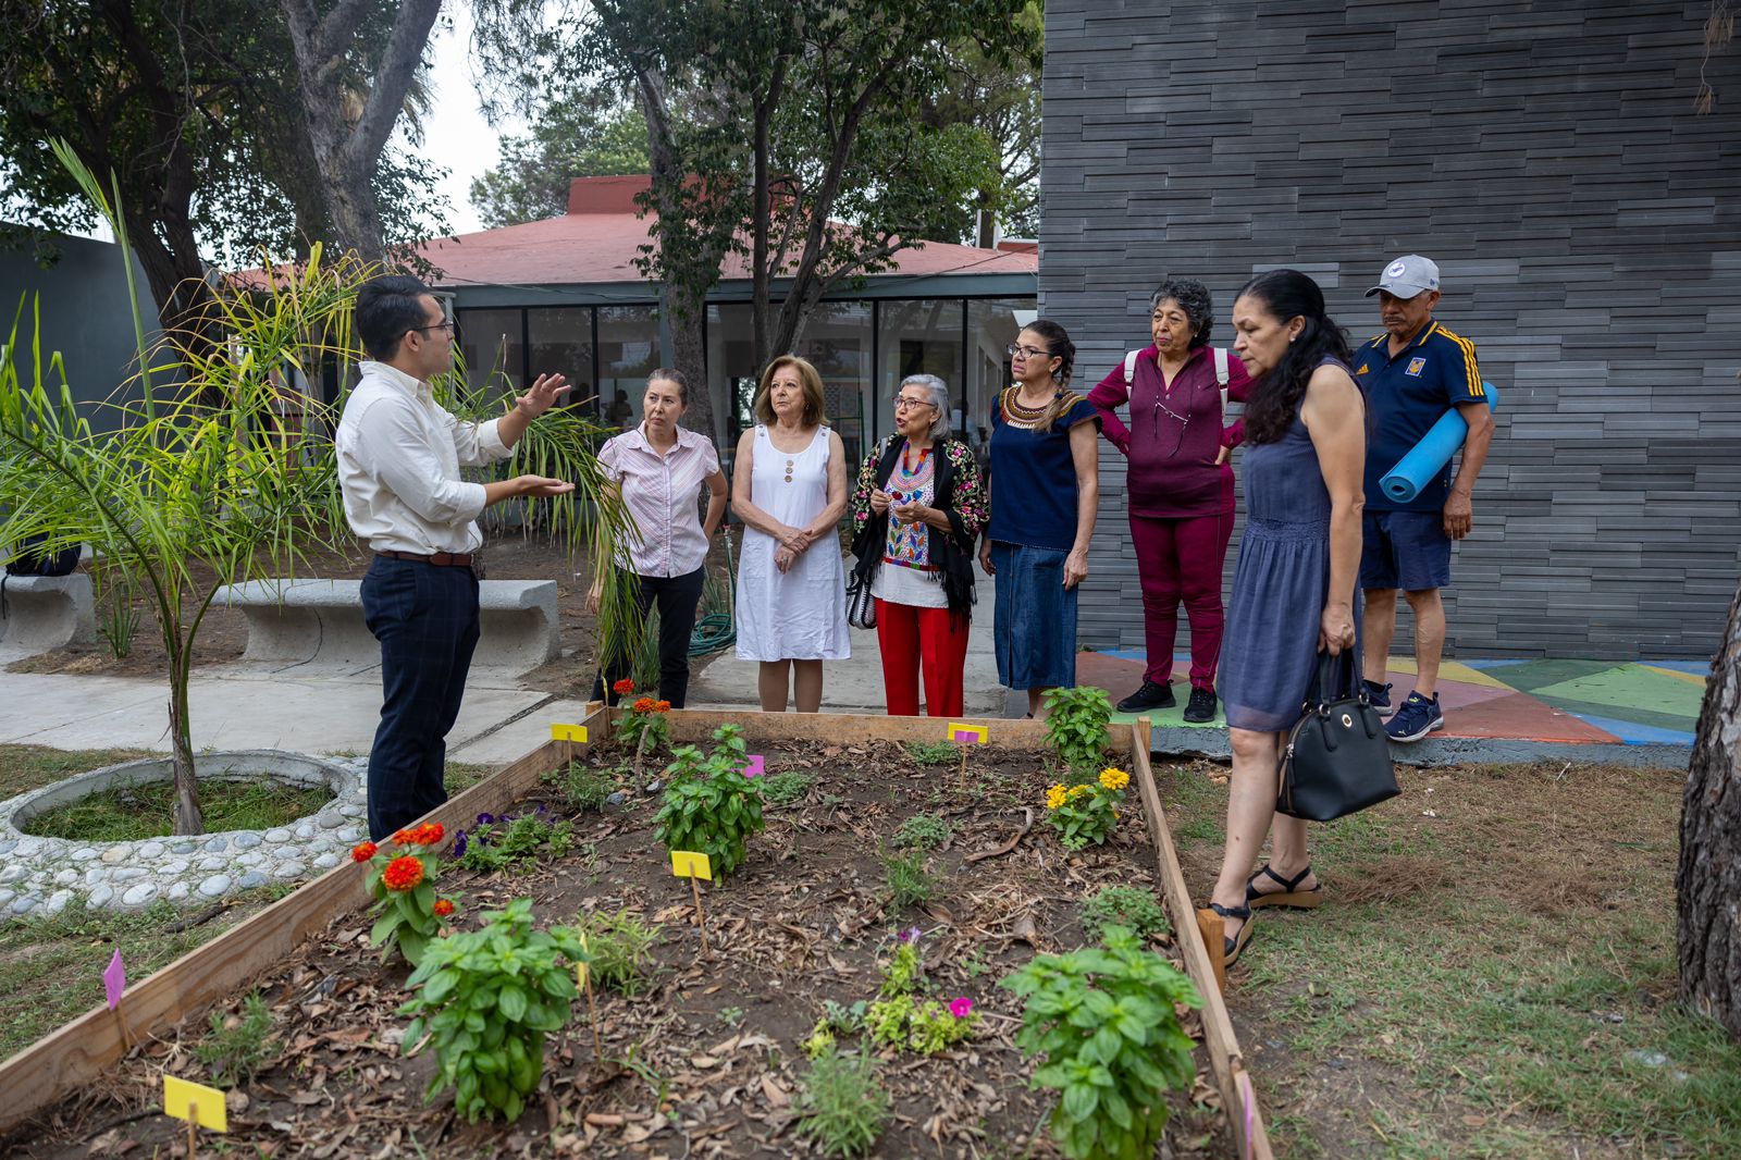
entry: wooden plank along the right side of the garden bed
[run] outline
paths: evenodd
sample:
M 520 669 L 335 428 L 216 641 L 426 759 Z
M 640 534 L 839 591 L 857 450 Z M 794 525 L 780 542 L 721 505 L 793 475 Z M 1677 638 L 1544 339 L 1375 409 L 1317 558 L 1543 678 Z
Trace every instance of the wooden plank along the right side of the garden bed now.
M 1241 1160 L 1274 1160 L 1274 1153 L 1269 1150 L 1269 1134 L 1264 1130 L 1264 1113 L 1257 1106 L 1257 1089 L 1245 1068 L 1240 1036 L 1233 1031 L 1227 1003 L 1215 982 L 1215 963 L 1210 961 L 1208 949 L 1198 937 L 1196 906 L 1191 904 L 1191 890 L 1186 887 L 1186 874 L 1179 866 L 1173 834 L 1166 827 L 1161 794 L 1154 787 L 1154 770 L 1149 765 L 1149 719 L 1139 719 L 1130 726 L 1130 732 L 1132 765 L 1137 766 L 1133 777 L 1142 792 L 1142 812 L 1149 819 L 1149 833 L 1154 836 L 1154 866 L 1161 878 L 1161 890 L 1166 894 L 1166 907 L 1173 916 L 1173 941 L 1186 961 L 1186 974 L 1191 975 L 1203 996 L 1203 1047 L 1208 1050 L 1208 1062 L 1215 1069 L 1215 1082 L 1220 1087 L 1220 1108 L 1233 1127 L 1233 1139 L 1240 1148 Z

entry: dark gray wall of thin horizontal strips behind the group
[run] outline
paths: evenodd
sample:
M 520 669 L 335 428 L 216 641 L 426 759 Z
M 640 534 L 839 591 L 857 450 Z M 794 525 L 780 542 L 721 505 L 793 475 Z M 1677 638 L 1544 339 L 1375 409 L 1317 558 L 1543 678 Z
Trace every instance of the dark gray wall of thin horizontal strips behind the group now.
M 1147 345 L 1166 273 L 1215 291 L 1215 345 L 1273 266 L 1360 341 L 1384 263 L 1428 254 L 1502 395 L 1447 655 L 1708 658 L 1741 575 L 1741 44 L 1706 59 L 1710 12 L 1050 0 L 1039 310 L 1078 387 Z M 1102 442 L 1085 644 L 1142 644 L 1123 469 Z

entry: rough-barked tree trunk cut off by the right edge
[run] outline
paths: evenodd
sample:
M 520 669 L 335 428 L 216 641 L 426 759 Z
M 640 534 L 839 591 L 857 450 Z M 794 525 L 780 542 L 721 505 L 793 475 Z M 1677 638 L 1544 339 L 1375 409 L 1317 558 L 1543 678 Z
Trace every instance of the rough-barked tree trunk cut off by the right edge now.
M 1741 589 L 1699 711 L 1675 902 L 1680 998 L 1741 1038 Z

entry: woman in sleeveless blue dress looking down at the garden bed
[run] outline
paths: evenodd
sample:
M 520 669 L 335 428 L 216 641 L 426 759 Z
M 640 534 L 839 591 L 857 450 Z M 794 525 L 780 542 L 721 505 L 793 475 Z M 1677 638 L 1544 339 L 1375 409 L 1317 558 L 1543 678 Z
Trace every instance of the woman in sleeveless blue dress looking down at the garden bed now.
M 1316 282 L 1299 270 L 1257 275 L 1233 305 L 1233 348 L 1255 385 L 1245 404 L 1245 538 L 1220 653 L 1233 777 L 1210 909 L 1224 923 L 1227 965 L 1252 937 L 1254 906 L 1323 900 L 1306 824 L 1276 813 L 1276 766 L 1320 650 L 1354 646 L 1367 456 L 1348 336 L 1325 314 Z M 1269 862 L 1254 874 L 1266 833 Z

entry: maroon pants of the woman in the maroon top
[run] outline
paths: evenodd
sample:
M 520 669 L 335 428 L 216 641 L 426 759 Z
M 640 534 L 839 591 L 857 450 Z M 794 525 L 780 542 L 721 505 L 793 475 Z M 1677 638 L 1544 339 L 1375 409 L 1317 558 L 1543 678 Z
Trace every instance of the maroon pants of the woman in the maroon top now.
M 1173 672 L 1179 604 L 1191 620 L 1191 686 L 1215 688 L 1220 658 L 1220 566 L 1233 536 L 1233 512 L 1189 519 L 1130 517 L 1142 582 L 1142 643 L 1149 653 L 1146 681 L 1166 685 Z

